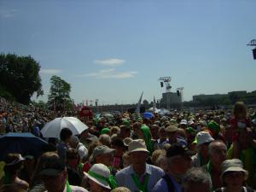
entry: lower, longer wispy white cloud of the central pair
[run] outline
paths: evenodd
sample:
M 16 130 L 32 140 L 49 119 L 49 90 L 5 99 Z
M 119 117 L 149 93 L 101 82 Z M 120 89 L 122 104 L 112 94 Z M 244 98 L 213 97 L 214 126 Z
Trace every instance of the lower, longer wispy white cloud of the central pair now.
M 78 77 L 90 77 L 96 79 L 128 79 L 132 78 L 137 72 L 117 72 L 114 68 L 100 70 L 95 73 L 87 73 L 84 75 L 78 75 Z

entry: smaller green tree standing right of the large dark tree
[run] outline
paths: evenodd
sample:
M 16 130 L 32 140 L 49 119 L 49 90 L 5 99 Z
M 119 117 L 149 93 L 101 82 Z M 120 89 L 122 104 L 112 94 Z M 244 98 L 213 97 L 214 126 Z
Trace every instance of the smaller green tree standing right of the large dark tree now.
M 63 110 L 71 108 L 72 100 L 69 96 L 71 85 L 58 76 L 50 78 L 50 89 L 48 102 L 49 105 L 56 108 L 56 110 Z

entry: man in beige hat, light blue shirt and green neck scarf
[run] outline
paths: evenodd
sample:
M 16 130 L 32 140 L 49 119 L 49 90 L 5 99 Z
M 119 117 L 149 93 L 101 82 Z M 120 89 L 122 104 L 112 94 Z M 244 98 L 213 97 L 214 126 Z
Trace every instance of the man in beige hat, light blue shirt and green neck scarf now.
M 148 165 L 148 149 L 142 139 L 133 140 L 128 146 L 131 166 L 117 172 L 118 186 L 123 186 L 131 191 L 150 191 L 154 184 L 165 175 L 157 166 Z

